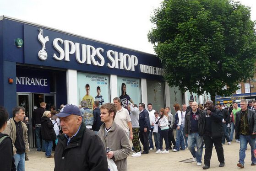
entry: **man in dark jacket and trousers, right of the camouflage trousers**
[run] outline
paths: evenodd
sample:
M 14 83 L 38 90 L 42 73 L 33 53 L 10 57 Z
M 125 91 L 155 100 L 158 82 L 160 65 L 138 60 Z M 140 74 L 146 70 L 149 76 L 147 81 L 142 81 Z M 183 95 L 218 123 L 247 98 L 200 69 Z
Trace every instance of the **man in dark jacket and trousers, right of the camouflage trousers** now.
M 149 121 L 149 114 L 145 109 L 145 104 L 139 104 L 139 110 L 141 111 L 139 115 L 139 125 L 140 125 L 140 132 L 139 138 L 143 145 L 142 155 L 148 154 L 149 146 L 148 146 L 148 134 L 151 129 L 150 121 Z

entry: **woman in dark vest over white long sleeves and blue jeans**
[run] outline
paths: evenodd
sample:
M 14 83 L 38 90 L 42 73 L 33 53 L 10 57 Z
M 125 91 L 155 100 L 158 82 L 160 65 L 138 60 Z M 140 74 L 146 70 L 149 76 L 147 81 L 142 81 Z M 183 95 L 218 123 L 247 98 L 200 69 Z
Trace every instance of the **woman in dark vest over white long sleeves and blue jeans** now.
M 176 129 L 176 144 L 173 151 L 185 150 L 185 140 L 182 133 L 184 126 L 182 123 L 182 114 L 180 110 L 180 105 L 178 103 L 174 104 L 174 110 L 176 111 L 176 114 L 174 117 L 175 121 L 174 121 L 173 128 Z

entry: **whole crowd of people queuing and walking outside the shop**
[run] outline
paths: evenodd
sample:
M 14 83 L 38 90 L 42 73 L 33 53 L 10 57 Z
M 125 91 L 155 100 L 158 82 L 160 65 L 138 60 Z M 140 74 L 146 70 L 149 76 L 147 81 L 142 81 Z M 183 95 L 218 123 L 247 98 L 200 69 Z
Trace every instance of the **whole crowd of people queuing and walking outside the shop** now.
M 147 109 L 144 103 L 123 106 L 119 97 L 115 97 L 113 103 L 94 101 L 93 110 L 86 100 L 80 105 L 61 105 L 59 111 L 52 106 L 47 111 L 46 103 L 41 102 L 33 111 L 31 123 L 36 134 L 36 150 L 45 151 L 47 158 L 54 157 L 55 171 L 107 171 L 109 167 L 126 171 L 131 151 L 132 157 L 140 157 L 147 155 L 149 150 L 166 154 L 169 150 L 188 149 L 196 165 L 202 166 L 204 147 L 202 168 L 210 168 L 213 147 L 219 167 L 223 167 L 223 144 L 226 141 L 231 144 L 234 132 L 235 141 L 240 143 L 237 166 L 245 167 L 248 143 L 251 166 L 256 165 L 256 102 L 247 104 L 242 99 L 240 107 L 237 102 L 228 107 L 214 106 L 211 100 L 205 105 L 191 100 L 189 106 L 182 104 L 180 107 L 175 103 L 175 114 L 170 112 L 170 107 L 156 111 L 151 103 L 147 104 Z M 9 114 L 0 107 L 0 164 L 6 171 L 24 171 L 25 156 L 29 152 L 25 108 L 15 107 L 12 114 L 8 119 Z

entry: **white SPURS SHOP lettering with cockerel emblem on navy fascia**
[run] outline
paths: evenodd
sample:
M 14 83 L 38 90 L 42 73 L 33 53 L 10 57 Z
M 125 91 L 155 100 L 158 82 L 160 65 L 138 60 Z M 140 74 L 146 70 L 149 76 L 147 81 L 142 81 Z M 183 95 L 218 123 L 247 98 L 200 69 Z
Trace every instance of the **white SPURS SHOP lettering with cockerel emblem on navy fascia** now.
M 57 61 L 69 62 L 75 56 L 77 63 L 102 67 L 105 64 L 109 69 L 124 69 L 126 71 L 135 71 L 139 65 L 141 73 L 152 75 L 163 75 L 163 69 L 146 64 L 138 64 L 138 58 L 133 54 L 107 50 L 104 48 L 95 48 L 90 44 L 82 44 L 65 40 L 62 38 L 50 39 L 44 35 L 44 30 L 38 29 L 38 41 L 42 44 L 42 48 L 38 51 L 38 58 L 42 61 L 51 57 Z M 48 54 L 46 44 L 52 43 L 55 53 Z M 71 56 L 72 55 L 72 56 Z

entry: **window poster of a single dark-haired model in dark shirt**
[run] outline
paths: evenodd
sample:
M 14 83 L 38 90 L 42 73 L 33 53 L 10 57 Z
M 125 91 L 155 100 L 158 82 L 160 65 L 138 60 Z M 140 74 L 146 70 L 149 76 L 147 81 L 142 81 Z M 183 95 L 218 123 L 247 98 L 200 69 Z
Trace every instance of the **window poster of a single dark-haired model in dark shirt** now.
M 127 108 L 129 103 L 141 102 L 140 80 L 136 78 L 117 77 L 118 96 L 123 107 Z

